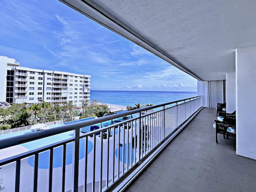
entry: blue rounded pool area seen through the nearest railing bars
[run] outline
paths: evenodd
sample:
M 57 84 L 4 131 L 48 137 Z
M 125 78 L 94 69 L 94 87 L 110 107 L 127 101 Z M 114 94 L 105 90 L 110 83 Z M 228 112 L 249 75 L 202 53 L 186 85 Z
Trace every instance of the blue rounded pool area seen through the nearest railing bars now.
M 80 139 L 79 144 L 79 159 L 84 158 L 84 151 L 85 151 L 85 140 Z M 92 151 L 93 144 L 92 142 L 88 141 L 88 152 L 89 154 Z M 72 163 L 72 153 L 73 153 L 73 142 L 68 143 L 66 145 L 66 165 Z M 53 150 L 53 168 L 61 167 L 62 166 L 62 159 L 63 159 L 63 146 L 59 146 L 54 148 Z M 50 151 L 42 152 L 38 155 L 38 168 L 40 169 L 48 169 L 49 168 L 49 160 L 50 160 Z M 28 158 L 28 164 L 34 167 L 34 156 Z

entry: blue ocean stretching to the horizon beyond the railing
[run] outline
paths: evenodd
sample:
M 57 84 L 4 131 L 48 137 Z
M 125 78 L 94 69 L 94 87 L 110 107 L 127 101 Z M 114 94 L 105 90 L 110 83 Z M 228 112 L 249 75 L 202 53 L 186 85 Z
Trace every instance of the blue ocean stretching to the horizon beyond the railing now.
M 160 91 L 92 91 L 90 101 L 97 100 L 103 104 L 134 106 L 163 104 L 197 96 L 197 92 L 160 92 Z

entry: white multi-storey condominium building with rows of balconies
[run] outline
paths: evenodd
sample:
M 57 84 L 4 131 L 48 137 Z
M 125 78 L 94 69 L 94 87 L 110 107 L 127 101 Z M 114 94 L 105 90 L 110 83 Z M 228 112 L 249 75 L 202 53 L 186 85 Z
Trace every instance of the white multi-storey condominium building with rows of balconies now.
M 15 59 L 0 56 L 0 101 L 56 104 L 90 101 L 90 75 L 20 67 Z

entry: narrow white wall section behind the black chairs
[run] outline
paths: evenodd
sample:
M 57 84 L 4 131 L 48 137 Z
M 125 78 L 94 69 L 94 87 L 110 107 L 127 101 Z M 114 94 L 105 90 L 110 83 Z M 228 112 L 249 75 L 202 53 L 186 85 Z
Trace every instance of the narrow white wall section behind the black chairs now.
M 226 106 L 227 113 L 236 110 L 236 72 L 226 74 Z

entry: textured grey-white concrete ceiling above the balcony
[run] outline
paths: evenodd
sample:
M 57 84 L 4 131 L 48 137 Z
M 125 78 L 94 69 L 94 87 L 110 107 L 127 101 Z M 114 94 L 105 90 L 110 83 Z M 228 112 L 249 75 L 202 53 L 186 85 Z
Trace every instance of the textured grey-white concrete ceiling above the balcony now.
M 60 1 L 199 80 L 226 79 L 256 45 L 255 0 Z

